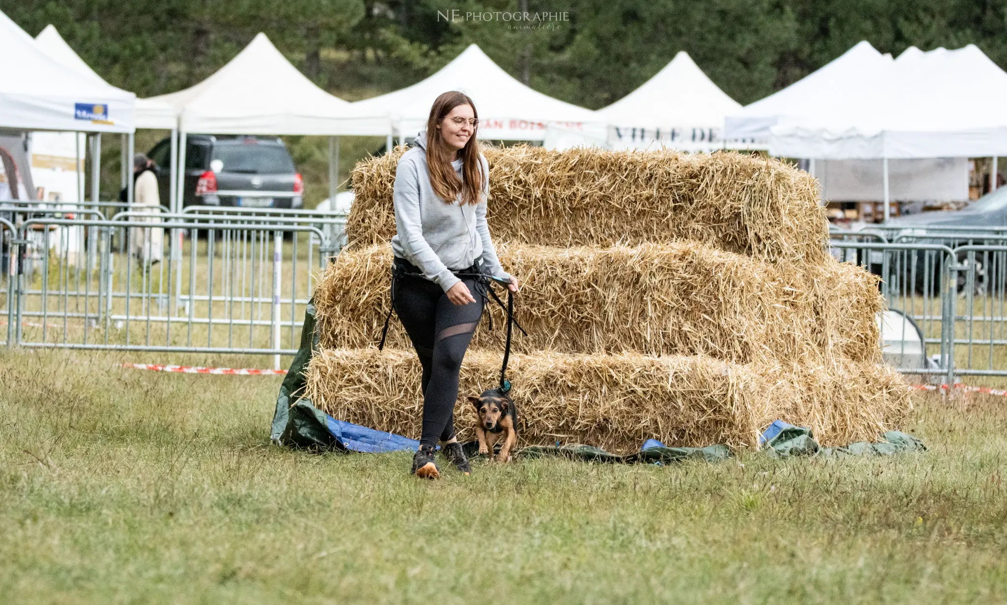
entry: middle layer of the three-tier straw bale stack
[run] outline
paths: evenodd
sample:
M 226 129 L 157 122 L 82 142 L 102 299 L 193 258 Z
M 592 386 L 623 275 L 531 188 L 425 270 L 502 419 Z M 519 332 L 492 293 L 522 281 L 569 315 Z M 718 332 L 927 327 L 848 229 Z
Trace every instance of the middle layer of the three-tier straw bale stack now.
M 880 354 L 875 280 L 835 261 L 804 270 L 690 242 L 572 248 L 501 245 L 519 276 L 515 350 L 639 352 L 755 360 L 875 360 Z M 317 290 L 325 348 L 376 343 L 390 306 L 387 245 L 344 252 Z M 499 289 L 502 293 L 502 289 Z M 489 306 L 472 346 L 500 350 L 503 311 Z M 393 318 L 388 345 L 411 348 Z

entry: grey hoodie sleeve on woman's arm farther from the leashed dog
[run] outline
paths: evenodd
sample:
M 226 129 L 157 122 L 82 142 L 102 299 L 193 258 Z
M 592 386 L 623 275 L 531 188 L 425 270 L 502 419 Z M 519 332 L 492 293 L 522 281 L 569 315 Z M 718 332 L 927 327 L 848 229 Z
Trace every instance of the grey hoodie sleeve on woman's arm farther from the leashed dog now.
M 416 265 L 424 277 L 436 283 L 444 292 L 460 282 L 441 262 L 437 253 L 423 239 L 420 214 L 420 175 L 414 162 L 399 162 L 392 190 L 395 226 L 406 260 Z

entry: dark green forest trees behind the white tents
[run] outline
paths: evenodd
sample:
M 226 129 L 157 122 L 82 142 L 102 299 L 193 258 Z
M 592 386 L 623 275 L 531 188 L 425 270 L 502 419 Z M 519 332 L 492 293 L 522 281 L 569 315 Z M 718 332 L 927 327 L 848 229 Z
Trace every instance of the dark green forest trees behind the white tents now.
M 260 31 L 347 101 L 414 84 L 472 42 L 532 88 L 589 109 L 625 96 L 679 50 L 742 104 L 862 39 L 893 54 L 972 42 L 1007 66 L 1007 0 L 0 0 L 0 10 L 32 35 L 52 23 L 103 78 L 140 97 L 198 83 Z M 451 10 L 462 18 L 438 18 Z M 516 30 L 463 18 L 485 11 L 563 12 L 566 20 Z M 138 148 L 161 136 L 144 134 Z M 343 176 L 383 144 L 343 141 Z M 288 143 L 317 201 L 324 141 Z

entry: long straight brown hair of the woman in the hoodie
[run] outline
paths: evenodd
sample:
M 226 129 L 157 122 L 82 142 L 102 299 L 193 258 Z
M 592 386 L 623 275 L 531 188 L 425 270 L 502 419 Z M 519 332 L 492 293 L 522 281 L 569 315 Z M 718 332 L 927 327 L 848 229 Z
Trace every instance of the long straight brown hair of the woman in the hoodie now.
M 458 174 L 451 166 L 450 158 L 454 149 L 444 141 L 437 128 L 451 110 L 459 105 L 471 106 L 472 116 L 476 120 L 479 119 L 472 100 L 468 95 L 457 91 L 441 94 L 430 108 L 430 117 L 427 118 L 427 170 L 430 173 L 430 185 L 434 193 L 447 203 L 452 203 L 458 197 L 459 191 L 461 203 L 478 203 L 482 195 L 484 182 L 482 179 L 487 178 L 487 175 L 482 174 L 479 144 L 475 139 L 478 123 L 472 129 L 472 136 L 468 142 L 458 150 L 458 156 L 461 158 L 461 180 L 458 180 Z

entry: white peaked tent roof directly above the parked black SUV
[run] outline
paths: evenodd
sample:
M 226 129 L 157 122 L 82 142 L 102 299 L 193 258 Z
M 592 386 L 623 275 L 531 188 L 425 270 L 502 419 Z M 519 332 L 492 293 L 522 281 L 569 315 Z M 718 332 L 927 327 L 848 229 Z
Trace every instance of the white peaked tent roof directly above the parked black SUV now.
M 388 118 L 358 112 L 297 70 L 266 34 L 194 87 L 152 97 L 179 116 L 187 133 L 386 135 Z

